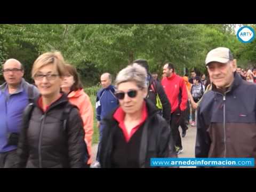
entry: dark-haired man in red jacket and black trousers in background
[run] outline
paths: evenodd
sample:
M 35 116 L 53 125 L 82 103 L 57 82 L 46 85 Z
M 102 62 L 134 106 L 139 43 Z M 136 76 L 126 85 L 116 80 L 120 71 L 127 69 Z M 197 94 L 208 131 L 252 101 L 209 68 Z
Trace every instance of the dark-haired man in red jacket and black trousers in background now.
M 174 65 L 172 63 L 166 63 L 164 65 L 163 74 L 166 77 L 162 79 L 162 85 L 172 106 L 170 127 L 177 154 L 180 154 L 183 148 L 181 145 L 179 125 L 181 118 L 183 118 L 182 114 L 184 114 L 187 108 L 188 93 L 184 79 L 174 73 Z

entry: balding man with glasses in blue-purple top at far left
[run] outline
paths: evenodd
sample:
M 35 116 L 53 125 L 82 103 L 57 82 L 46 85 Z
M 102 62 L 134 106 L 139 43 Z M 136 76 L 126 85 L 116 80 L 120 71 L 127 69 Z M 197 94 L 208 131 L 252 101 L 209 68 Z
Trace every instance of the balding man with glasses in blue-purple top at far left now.
M 0 167 L 10 168 L 17 159 L 16 149 L 25 107 L 37 95 L 37 88 L 23 79 L 24 69 L 16 59 L 3 65 L 5 83 L 0 85 Z

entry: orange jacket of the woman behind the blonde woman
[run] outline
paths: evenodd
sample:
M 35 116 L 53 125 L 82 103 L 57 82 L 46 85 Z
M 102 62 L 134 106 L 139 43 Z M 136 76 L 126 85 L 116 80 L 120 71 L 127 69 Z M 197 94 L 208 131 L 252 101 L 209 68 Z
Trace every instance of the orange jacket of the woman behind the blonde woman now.
M 93 135 L 93 108 L 89 96 L 83 89 L 72 91 L 68 94 L 68 100 L 79 109 L 79 113 L 83 119 L 85 142 L 87 144 L 88 153 L 90 158 L 87 164 L 92 163 L 92 135 Z

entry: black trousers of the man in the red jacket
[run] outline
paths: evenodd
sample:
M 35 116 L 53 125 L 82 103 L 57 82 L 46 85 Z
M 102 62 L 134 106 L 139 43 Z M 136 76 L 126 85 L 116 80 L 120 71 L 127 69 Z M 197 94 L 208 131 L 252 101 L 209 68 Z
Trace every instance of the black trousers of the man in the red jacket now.
M 180 131 L 179 131 L 179 126 L 181 123 L 182 115 L 180 113 L 180 110 L 177 109 L 171 114 L 171 122 L 170 122 L 170 127 L 171 127 L 171 132 L 173 135 L 173 140 L 175 143 L 175 146 L 177 147 L 182 147 L 181 145 L 181 137 L 180 137 Z

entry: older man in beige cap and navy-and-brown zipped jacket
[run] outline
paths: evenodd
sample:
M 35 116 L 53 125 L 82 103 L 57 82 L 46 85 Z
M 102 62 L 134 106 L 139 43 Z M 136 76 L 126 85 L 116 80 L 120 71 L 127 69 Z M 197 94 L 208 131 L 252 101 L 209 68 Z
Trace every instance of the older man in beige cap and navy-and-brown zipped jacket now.
M 212 90 L 198 106 L 195 156 L 255 158 L 256 85 L 236 73 L 228 48 L 210 51 L 205 64 Z

